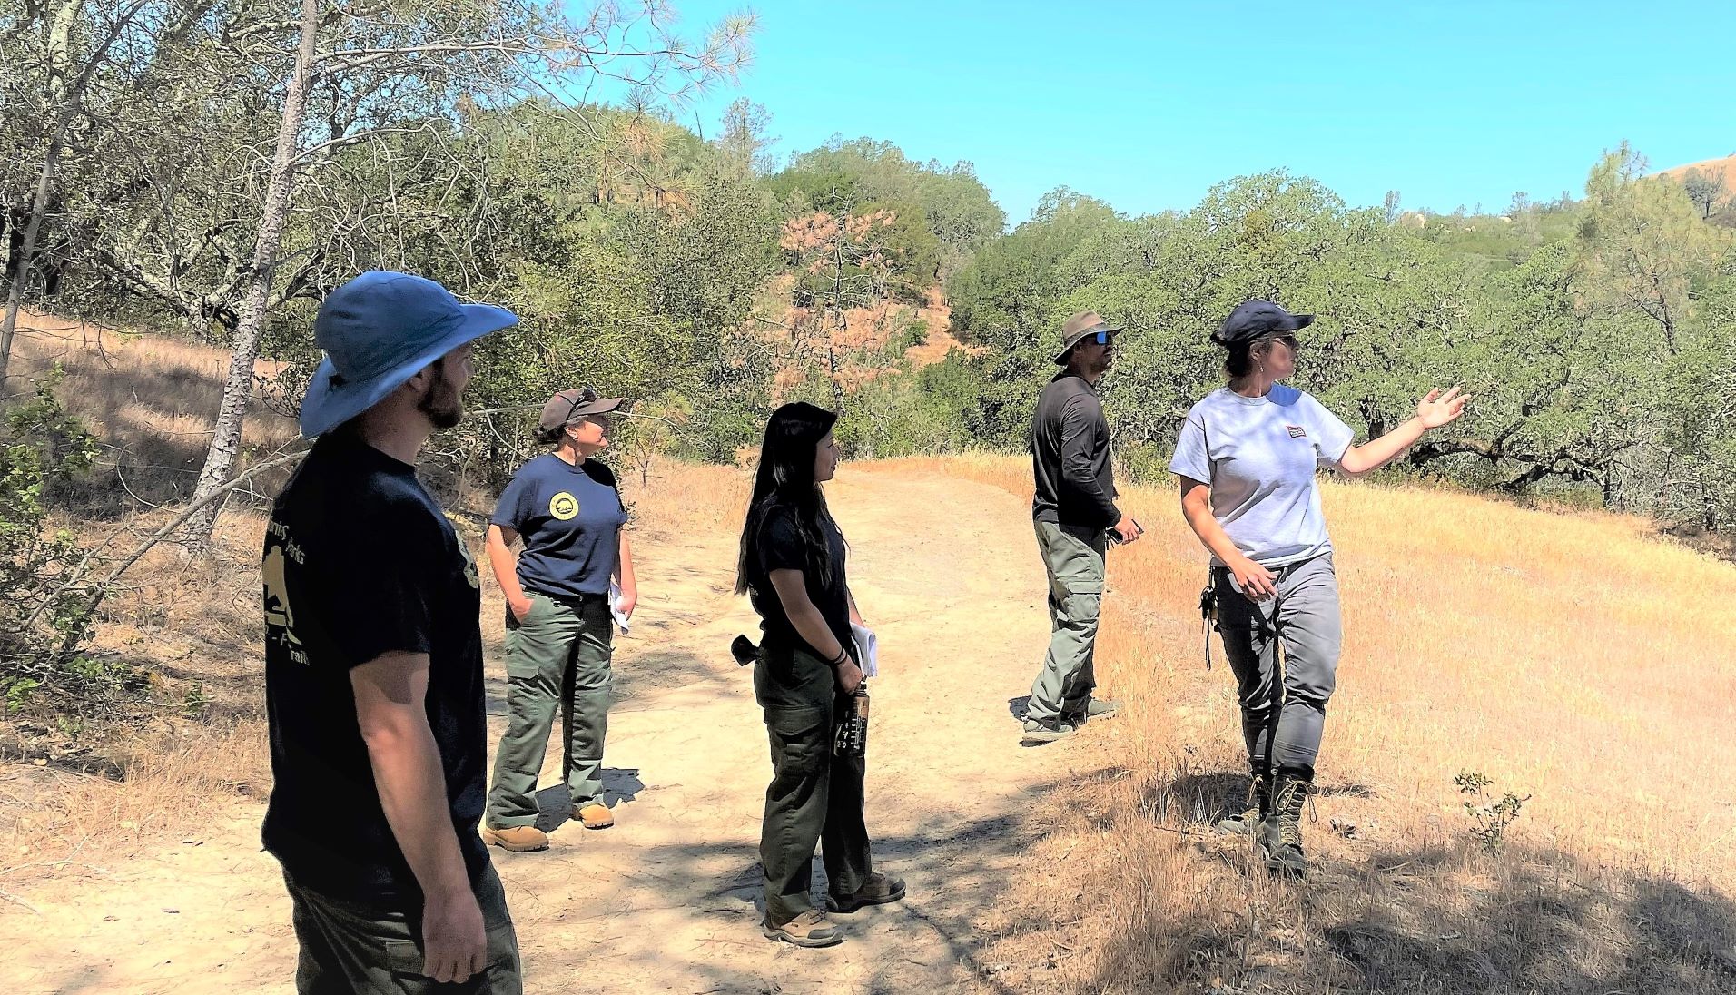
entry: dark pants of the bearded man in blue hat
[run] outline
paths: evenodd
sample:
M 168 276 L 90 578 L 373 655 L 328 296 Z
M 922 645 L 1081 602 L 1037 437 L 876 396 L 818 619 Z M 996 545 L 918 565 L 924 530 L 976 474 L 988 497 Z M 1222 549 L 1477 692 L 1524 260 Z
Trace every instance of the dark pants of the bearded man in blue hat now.
M 521 995 L 519 939 L 507 913 L 507 893 L 493 867 L 476 880 L 488 957 L 481 974 L 437 985 L 422 974 L 420 908 L 339 901 L 297 886 L 285 875 L 293 906 L 299 995 Z

